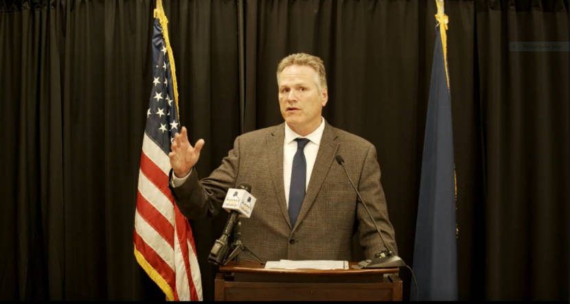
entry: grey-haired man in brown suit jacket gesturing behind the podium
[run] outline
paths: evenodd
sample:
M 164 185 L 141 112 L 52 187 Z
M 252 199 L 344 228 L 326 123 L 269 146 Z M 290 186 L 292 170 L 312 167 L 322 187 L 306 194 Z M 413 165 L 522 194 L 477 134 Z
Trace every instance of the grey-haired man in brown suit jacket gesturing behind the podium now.
M 262 259 L 353 261 L 356 232 L 365 257 L 372 259 L 385 247 L 335 161 L 341 155 L 389 250 L 397 254 L 376 148 L 321 116 L 328 101 L 323 61 L 309 54 L 287 56 L 277 67 L 277 84 L 284 123 L 237 137 L 207 178 L 198 179 L 193 168 L 205 141 L 192 146 L 184 127 L 176 134 L 170 183 L 181 212 L 190 219 L 211 218 L 228 188 L 249 183 L 257 201 L 251 218 L 241 220 L 241 239 Z M 243 253 L 240 258 L 251 259 Z

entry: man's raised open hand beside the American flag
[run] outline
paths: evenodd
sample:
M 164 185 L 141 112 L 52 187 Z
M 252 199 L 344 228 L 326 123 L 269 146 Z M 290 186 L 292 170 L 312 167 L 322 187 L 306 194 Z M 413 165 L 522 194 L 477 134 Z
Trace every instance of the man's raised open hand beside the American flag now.
M 171 152 L 168 154 L 168 157 L 176 177 L 182 178 L 187 176 L 190 169 L 198 163 L 200 151 L 204 143 L 203 139 L 198 139 L 194 147 L 192 147 L 190 141 L 188 141 L 186 127 L 182 127 L 181 132 L 174 135 L 174 141 L 170 145 Z

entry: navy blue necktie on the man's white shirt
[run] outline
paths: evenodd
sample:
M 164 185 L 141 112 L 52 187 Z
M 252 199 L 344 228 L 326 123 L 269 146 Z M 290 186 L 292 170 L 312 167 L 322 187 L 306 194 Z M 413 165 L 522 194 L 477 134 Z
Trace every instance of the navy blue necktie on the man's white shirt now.
M 289 188 L 289 218 L 291 226 L 295 226 L 301 204 L 305 198 L 305 187 L 307 180 L 307 161 L 303 150 L 309 142 L 308 139 L 295 139 L 297 141 L 297 153 L 293 156 L 293 168 L 291 169 L 291 185 Z

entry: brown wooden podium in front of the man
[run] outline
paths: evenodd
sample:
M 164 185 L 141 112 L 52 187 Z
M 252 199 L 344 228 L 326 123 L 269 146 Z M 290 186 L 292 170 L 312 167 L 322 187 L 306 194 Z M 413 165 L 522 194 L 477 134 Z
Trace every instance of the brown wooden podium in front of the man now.
M 256 261 L 220 266 L 214 301 L 402 301 L 398 268 L 265 269 Z

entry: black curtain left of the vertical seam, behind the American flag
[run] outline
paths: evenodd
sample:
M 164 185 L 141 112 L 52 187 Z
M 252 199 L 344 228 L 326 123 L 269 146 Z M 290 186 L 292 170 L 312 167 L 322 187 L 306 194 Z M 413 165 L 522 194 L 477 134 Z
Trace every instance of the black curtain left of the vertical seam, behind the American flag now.
M 151 0 L 0 2 L 0 115 L 10 130 L 0 154 L 1 299 L 164 299 L 133 255 L 154 8 Z M 215 139 L 198 165 L 208 174 L 239 132 L 236 4 L 165 9 L 181 122 L 193 141 Z M 213 294 L 206 259 L 221 228 L 192 226 Z

